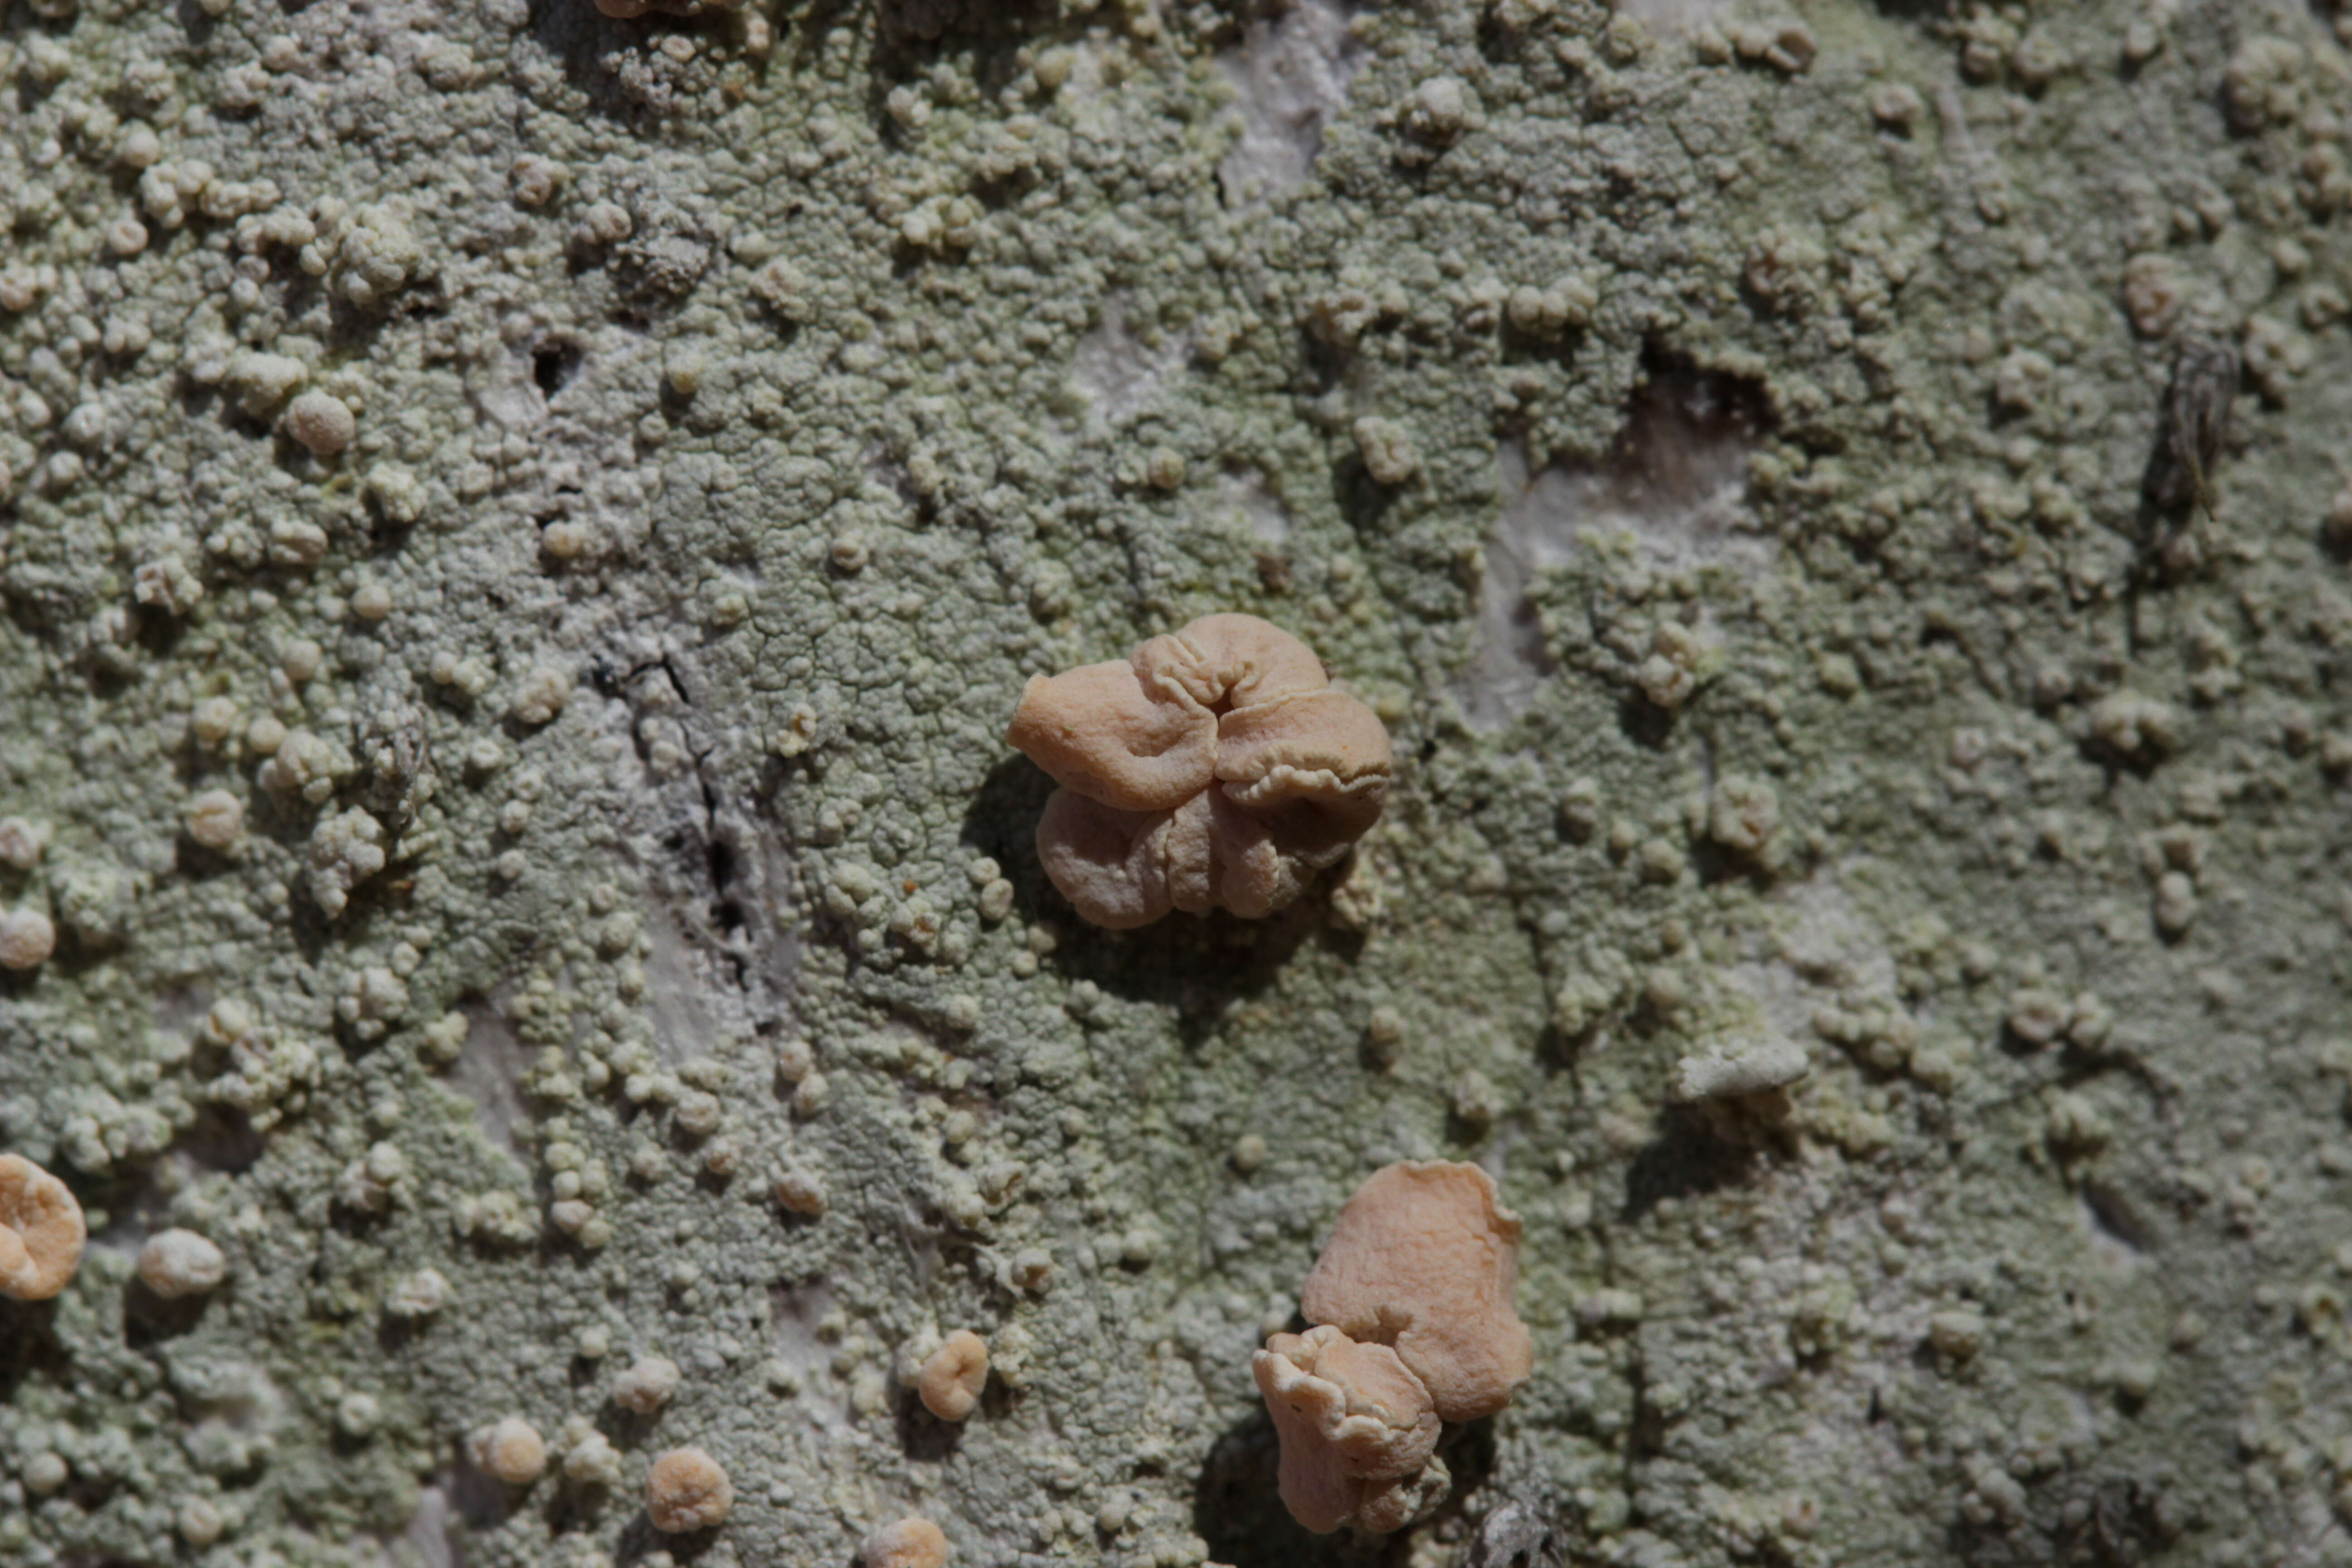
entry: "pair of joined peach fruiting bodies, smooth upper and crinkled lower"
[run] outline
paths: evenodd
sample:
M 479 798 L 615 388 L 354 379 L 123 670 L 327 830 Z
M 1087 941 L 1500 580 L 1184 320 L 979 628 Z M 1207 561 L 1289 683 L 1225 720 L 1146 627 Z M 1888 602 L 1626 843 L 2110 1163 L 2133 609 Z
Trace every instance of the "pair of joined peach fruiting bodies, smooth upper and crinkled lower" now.
M 1251 1359 L 1298 1523 L 1388 1533 L 1444 1502 L 1444 1422 L 1494 1415 L 1536 1363 L 1517 1276 L 1519 1215 L 1477 1166 L 1404 1161 L 1357 1187 L 1298 1302 L 1315 1328 Z

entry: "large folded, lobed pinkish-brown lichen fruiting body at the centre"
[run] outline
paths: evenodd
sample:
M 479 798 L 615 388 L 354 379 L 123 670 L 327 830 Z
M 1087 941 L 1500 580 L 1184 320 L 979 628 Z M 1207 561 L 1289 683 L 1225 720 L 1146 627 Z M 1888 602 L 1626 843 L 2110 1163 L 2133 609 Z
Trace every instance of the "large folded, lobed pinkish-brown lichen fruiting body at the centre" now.
M 1030 677 L 1004 738 L 1061 785 L 1037 823 L 1047 877 L 1112 931 L 1169 910 L 1272 914 L 1388 799 L 1378 715 L 1256 616 Z

